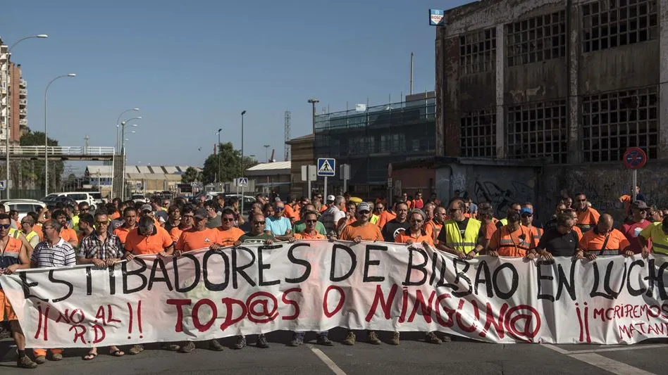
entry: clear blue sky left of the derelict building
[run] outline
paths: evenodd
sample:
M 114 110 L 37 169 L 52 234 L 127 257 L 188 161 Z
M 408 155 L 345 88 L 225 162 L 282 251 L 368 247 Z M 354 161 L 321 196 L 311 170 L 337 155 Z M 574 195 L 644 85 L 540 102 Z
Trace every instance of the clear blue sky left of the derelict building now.
M 128 163 L 202 165 L 221 141 L 264 160 L 283 160 L 283 114 L 292 137 L 311 132 L 307 99 L 318 110 L 346 102 L 381 105 L 434 87 L 435 29 L 428 8 L 461 1 L 25 1 L 3 2 L 0 37 L 12 44 L 28 89 L 28 126 L 63 146 L 113 146 L 116 119 L 140 107 Z M 202 151 L 198 151 L 198 148 Z M 271 153 L 271 148 L 269 152 Z

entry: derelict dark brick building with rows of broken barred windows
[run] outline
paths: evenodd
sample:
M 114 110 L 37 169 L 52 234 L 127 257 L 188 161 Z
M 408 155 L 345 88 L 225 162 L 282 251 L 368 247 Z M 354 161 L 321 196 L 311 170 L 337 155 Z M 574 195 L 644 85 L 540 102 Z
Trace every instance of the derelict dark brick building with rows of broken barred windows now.
M 621 156 L 638 146 L 650 160 L 641 189 L 650 203 L 668 205 L 661 9 L 668 0 L 483 0 L 446 11 L 435 41 L 437 190 L 535 197 L 544 211 L 561 189 L 582 191 L 619 218 L 617 198 L 631 185 Z M 497 165 L 496 177 L 488 167 L 461 168 L 471 163 Z

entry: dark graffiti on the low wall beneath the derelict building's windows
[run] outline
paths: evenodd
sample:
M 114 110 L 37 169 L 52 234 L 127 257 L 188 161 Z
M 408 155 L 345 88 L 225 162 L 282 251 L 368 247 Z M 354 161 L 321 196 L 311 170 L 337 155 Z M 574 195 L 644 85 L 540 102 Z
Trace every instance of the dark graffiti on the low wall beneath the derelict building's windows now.
M 535 193 L 531 186 L 523 182 L 509 181 L 506 188 L 493 181 L 476 181 L 474 194 L 478 202 L 490 202 L 497 217 L 505 217 L 510 205 L 533 202 Z

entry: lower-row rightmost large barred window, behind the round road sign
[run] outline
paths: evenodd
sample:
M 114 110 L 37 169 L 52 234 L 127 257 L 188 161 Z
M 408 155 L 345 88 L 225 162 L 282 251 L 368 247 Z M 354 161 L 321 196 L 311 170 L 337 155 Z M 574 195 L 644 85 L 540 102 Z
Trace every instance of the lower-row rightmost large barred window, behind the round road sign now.
M 656 87 L 583 98 L 584 160 L 619 161 L 629 147 L 657 158 L 657 98 Z

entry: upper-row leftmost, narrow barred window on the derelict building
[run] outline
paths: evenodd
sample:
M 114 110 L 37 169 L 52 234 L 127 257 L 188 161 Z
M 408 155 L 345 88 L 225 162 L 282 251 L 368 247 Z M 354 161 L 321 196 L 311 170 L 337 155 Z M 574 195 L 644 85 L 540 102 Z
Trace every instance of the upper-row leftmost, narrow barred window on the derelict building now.
M 459 68 L 462 75 L 494 70 L 496 29 L 470 32 L 459 37 Z

